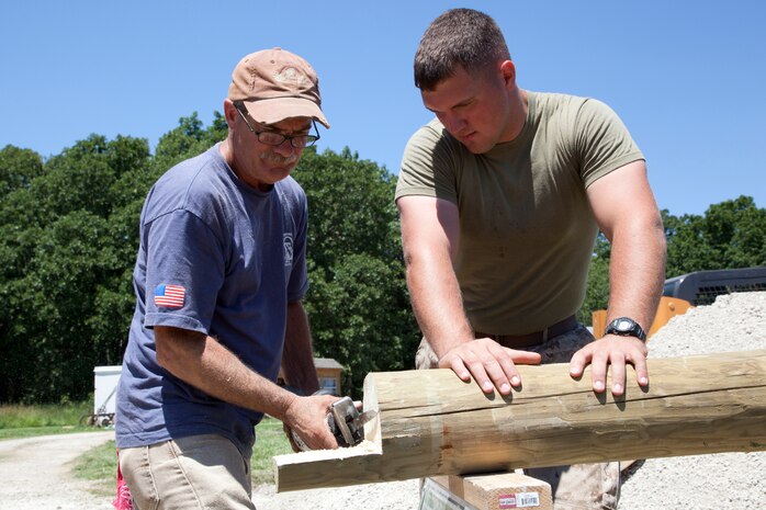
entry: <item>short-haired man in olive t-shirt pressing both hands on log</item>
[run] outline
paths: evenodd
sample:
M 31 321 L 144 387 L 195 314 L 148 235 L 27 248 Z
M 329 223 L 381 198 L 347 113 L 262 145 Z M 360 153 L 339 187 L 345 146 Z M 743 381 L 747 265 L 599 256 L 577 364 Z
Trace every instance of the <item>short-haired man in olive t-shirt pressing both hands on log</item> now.
M 424 333 L 418 367 L 449 367 L 503 395 L 516 363 L 592 364 L 621 395 L 649 384 L 644 331 L 664 279 L 662 220 L 644 158 L 617 115 L 518 87 L 496 23 L 450 10 L 426 31 L 415 83 L 436 118 L 410 138 L 396 190 L 407 283 Z M 608 335 L 574 314 L 598 230 L 612 243 Z M 529 469 L 556 508 L 616 508 L 617 463 Z

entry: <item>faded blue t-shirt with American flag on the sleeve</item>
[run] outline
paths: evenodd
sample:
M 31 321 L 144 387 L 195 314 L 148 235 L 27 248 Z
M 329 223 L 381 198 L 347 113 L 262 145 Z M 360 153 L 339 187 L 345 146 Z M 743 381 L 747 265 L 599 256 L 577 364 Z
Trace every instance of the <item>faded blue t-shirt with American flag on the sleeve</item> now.
M 211 397 L 159 366 L 153 327 L 214 337 L 275 381 L 286 305 L 308 287 L 306 226 L 306 196 L 292 178 L 269 192 L 254 189 L 232 171 L 218 145 L 155 183 L 140 215 L 117 447 L 215 433 L 249 458 L 262 415 Z

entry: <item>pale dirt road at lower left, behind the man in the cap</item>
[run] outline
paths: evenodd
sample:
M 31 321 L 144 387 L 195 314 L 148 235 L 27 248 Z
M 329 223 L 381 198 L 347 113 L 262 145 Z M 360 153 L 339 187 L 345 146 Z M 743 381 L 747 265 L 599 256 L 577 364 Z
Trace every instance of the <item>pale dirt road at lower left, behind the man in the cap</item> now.
M 114 510 L 69 473 L 78 455 L 110 439 L 114 431 L 0 441 L 0 510 Z

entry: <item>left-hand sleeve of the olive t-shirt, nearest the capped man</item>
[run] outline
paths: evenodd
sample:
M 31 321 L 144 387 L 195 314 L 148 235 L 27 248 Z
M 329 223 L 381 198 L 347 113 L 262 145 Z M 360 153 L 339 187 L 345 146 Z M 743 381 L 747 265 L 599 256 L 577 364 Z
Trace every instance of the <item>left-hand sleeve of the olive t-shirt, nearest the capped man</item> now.
M 454 171 L 454 155 L 443 127 L 435 123 L 424 126 L 404 149 L 395 199 L 423 195 L 457 203 Z

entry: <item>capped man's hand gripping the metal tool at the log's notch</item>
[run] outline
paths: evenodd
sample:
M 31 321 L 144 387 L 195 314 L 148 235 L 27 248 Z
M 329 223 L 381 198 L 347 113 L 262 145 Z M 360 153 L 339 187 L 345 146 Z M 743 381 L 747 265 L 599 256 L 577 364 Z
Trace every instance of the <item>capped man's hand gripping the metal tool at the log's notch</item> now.
M 285 433 L 294 451 L 300 451 L 293 443 L 290 429 L 306 443 L 311 450 L 335 450 L 338 442 L 327 424 L 330 404 L 339 400 L 334 395 L 312 395 L 295 397 L 284 418 Z

